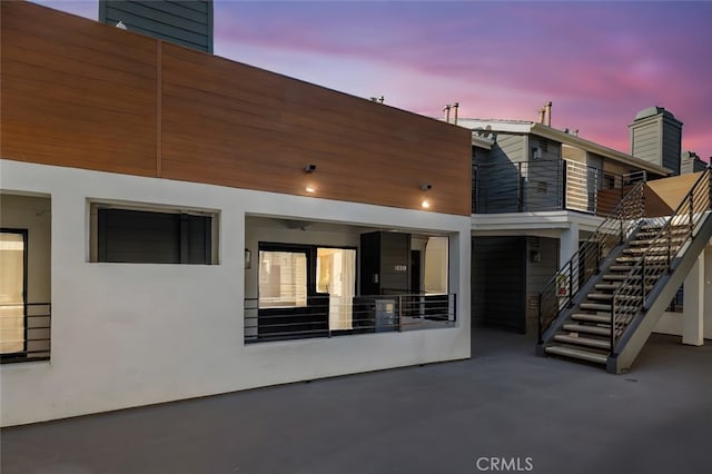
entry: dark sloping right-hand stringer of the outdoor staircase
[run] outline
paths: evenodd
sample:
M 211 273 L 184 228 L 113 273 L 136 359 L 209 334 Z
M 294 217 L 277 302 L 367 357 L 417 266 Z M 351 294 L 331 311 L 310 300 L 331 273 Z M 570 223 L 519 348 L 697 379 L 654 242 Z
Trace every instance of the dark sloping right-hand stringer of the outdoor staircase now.
M 606 372 L 621 374 L 631 368 L 695 260 L 712 238 L 712 214 L 708 211 L 702 220 L 694 238 L 685 244 L 688 248 L 683 255 L 672 263 L 672 270 L 662 276 L 647 295 L 647 308 L 633 319 L 619 339 L 613 354 L 609 356 Z

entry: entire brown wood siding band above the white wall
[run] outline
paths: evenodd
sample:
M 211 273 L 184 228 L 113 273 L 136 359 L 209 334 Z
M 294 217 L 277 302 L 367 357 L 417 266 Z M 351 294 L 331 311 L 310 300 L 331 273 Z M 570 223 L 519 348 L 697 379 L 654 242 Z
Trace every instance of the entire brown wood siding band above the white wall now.
M 402 208 L 427 198 L 433 211 L 471 214 L 465 128 L 0 3 L 2 158 L 294 195 L 312 185 L 318 198 Z

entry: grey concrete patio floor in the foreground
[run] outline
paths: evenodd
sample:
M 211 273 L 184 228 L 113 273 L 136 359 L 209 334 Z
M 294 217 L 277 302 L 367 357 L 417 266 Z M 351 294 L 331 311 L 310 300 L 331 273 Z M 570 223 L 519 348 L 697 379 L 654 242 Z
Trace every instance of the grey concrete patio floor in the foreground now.
M 472 352 L 462 362 L 6 428 L 0 471 L 712 471 L 710 342 L 654 335 L 619 376 L 535 357 L 531 338 L 491 329 L 475 330 Z

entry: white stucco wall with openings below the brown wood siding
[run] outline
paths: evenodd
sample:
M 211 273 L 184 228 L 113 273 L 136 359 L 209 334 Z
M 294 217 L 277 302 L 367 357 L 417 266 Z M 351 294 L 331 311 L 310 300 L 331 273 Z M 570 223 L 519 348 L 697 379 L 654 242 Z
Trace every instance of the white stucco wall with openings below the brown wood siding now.
M 469 356 L 468 216 L 0 161 L 51 196 L 51 361 L 0 367 L 2 425 Z M 89 261 L 89 199 L 219 213 L 219 265 Z M 456 327 L 244 345 L 246 215 L 451 236 Z

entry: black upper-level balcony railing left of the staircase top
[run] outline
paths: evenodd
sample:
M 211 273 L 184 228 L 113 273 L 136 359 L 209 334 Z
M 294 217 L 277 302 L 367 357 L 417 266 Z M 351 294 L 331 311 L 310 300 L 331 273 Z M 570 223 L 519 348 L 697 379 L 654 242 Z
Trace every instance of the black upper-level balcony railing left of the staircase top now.
M 640 179 L 568 160 L 482 164 L 473 167 L 474 214 L 577 210 L 607 215 L 624 188 Z

